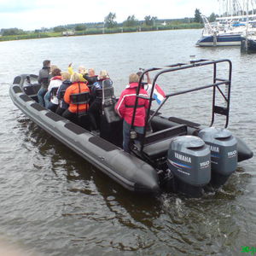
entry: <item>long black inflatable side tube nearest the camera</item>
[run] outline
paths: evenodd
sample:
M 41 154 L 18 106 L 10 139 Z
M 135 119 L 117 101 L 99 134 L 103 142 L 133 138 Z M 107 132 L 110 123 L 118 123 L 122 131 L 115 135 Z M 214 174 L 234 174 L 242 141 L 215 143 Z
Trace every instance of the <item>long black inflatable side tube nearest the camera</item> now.
M 17 77 L 9 88 L 15 105 L 44 131 L 64 143 L 68 148 L 89 161 L 108 177 L 131 191 L 142 193 L 160 192 L 156 170 L 143 160 L 125 153 L 119 147 L 95 136 L 67 119 L 41 107 L 32 97 L 26 96 L 22 84 L 26 75 Z

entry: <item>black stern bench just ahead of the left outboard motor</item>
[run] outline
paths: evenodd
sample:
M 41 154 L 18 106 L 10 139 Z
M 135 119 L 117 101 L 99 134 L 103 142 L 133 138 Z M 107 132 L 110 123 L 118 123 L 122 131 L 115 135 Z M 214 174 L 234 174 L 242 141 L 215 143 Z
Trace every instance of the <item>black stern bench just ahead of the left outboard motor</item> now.
M 143 153 L 150 159 L 165 157 L 172 139 L 187 135 L 187 125 L 177 125 L 165 130 L 156 131 L 144 138 Z

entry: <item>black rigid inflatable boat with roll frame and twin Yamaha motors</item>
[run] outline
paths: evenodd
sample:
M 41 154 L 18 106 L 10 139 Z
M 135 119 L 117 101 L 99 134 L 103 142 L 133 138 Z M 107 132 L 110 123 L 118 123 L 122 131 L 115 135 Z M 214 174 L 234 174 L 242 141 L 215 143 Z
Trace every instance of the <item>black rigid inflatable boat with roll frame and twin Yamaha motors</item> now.
M 218 63 L 227 65 L 228 78 L 217 77 Z M 152 110 L 154 87 L 160 75 L 205 66 L 213 67 L 213 83 L 168 94 L 160 106 Z M 36 75 L 15 77 L 9 95 L 33 122 L 126 189 L 146 193 L 172 191 L 200 196 L 207 188 L 218 188 L 224 184 L 236 171 L 238 161 L 253 157 L 247 144 L 226 129 L 230 113 L 231 68 L 229 60 L 198 60 L 144 70 L 131 124 L 131 154 L 121 148 L 123 121 L 114 112 L 116 100 L 113 91 L 102 92 L 100 131 L 90 131 L 87 113 L 78 116 L 73 123 L 40 106 L 37 102 L 40 84 L 37 84 Z M 156 74 L 148 96 L 147 129 L 138 137 L 133 123 L 139 108 L 138 99 L 144 97 L 139 95 L 139 88 L 143 86 L 143 75 L 150 72 Z M 160 108 L 172 96 L 209 88 L 212 88 L 212 122 L 209 127 L 178 117 L 165 117 L 160 113 Z M 225 107 L 216 104 L 218 94 L 223 97 Z M 213 126 L 216 114 L 224 116 L 224 128 Z

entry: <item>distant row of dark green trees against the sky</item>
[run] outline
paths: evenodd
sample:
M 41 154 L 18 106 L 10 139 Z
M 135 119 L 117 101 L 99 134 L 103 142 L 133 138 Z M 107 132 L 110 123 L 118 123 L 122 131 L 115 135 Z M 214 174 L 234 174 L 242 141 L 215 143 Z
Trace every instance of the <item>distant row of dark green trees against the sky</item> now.
M 209 17 L 209 21 L 212 22 L 216 19 L 218 15 L 212 13 Z M 167 22 L 173 22 L 174 19 L 165 20 Z M 74 25 L 66 25 L 66 26 L 55 26 L 51 29 L 42 27 L 41 29 L 36 29 L 34 32 L 65 32 L 67 30 L 74 30 L 77 32 L 85 31 L 88 27 L 90 28 L 115 28 L 118 26 L 125 26 L 125 27 L 136 27 L 136 26 L 160 26 L 163 20 L 159 20 L 156 16 L 147 15 L 144 17 L 144 20 L 137 20 L 135 15 L 129 15 L 126 20 L 122 23 L 118 23 L 116 21 L 116 14 L 110 12 L 105 18 L 104 22 L 95 22 L 95 23 L 80 23 Z M 177 19 L 175 22 L 177 23 L 201 23 L 201 12 L 200 9 L 195 9 L 195 17 L 194 18 L 183 18 Z M 8 29 L 1 29 L 2 36 L 10 36 L 10 35 L 22 35 L 26 34 L 27 32 L 23 31 L 19 28 L 8 28 Z

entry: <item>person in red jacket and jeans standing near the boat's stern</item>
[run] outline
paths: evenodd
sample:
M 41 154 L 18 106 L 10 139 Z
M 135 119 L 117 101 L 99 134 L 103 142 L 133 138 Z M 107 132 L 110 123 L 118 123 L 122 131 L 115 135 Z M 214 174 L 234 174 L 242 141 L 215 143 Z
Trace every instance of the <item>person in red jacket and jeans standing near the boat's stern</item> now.
M 119 101 L 115 105 L 115 111 L 124 119 L 123 125 L 123 148 L 126 152 L 130 152 L 130 130 L 133 111 L 135 110 L 136 91 L 139 77 L 136 73 L 129 76 L 129 86 L 123 90 Z M 148 97 L 146 90 L 141 88 L 140 96 Z M 148 108 L 148 100 L 139 98 L 137 102 L 137 110 L 134 119 L 134 130 L 139 134 L 143 134 L 146 118 L 146 109 Z

